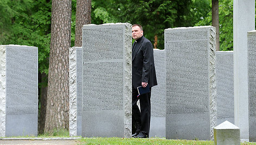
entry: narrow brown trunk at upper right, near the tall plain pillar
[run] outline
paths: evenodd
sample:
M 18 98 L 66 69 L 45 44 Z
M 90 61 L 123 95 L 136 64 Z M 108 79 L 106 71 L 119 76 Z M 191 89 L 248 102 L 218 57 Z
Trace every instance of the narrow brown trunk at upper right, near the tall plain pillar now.
M 212 0 L 212 20 L 216 28 L 216 51 L 220 51 L 219 0 Z

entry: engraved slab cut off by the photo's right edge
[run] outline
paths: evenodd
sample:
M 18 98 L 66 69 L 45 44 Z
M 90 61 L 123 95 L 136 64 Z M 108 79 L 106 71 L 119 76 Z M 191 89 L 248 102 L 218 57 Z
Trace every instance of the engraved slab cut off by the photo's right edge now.
M 249 31 L 248 37 L 248 100 L 249 141 L 256 141 L 256 31 Z

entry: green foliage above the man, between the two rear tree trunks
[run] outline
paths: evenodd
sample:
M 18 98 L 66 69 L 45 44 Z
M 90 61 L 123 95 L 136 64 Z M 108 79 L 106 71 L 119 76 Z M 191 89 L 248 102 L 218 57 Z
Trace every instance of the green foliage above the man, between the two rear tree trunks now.
M 208 0 L 92 1 L 92 23 L 142 24 L 155 48 L 164 49 L 164 29 L 194 26 L 210 10 Z M 208 9 L 209 8 L 209 9 Z M 96 19 L 97 18 L 97 19 Z M 101 21 L 100 21 L 101 20 Z

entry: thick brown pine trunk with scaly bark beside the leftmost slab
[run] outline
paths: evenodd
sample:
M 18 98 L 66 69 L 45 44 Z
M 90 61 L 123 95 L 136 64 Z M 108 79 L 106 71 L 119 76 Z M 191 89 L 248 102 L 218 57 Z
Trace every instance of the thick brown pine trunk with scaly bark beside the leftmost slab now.
M 69 127 L 68 49 L 71 46 L 71 0 L 52 1 L 52 27 L 44 131 Z

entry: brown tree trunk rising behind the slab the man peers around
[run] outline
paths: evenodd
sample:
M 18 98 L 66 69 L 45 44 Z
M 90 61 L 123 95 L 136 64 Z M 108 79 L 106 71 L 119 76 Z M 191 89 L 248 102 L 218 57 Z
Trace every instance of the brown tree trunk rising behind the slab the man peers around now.
M 75 46 L 82 47 L 82 25 L 91 24 L 91 0 L 76 0 Z

